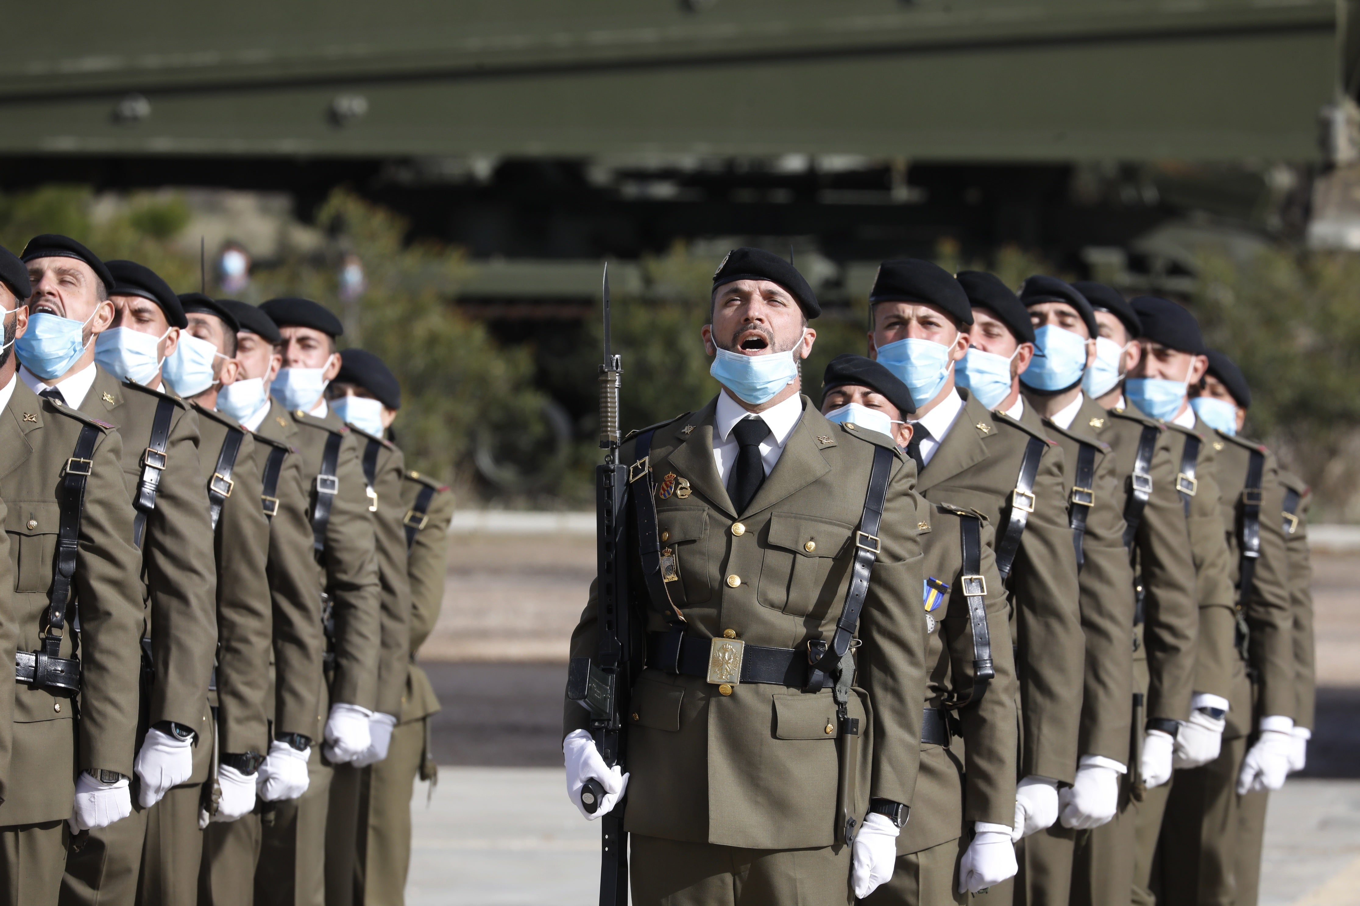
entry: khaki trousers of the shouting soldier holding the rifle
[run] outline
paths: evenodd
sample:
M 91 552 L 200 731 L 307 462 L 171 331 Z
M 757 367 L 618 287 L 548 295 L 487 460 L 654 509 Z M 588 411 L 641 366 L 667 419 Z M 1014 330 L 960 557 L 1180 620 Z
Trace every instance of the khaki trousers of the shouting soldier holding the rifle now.
M 850 906 L 850 848 L 741 849 L 630 834 L 634 906 Z

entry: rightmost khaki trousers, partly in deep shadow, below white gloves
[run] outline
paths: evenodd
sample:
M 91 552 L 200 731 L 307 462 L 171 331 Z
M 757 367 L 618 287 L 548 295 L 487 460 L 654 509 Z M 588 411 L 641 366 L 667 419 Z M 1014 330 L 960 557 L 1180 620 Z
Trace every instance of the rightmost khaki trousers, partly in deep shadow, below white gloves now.
M 1238 772 L 1246 736 L 1224 739 L 1219 758 L 1178 770 L 1152 873 L 1160 906 L 1235 906 Z

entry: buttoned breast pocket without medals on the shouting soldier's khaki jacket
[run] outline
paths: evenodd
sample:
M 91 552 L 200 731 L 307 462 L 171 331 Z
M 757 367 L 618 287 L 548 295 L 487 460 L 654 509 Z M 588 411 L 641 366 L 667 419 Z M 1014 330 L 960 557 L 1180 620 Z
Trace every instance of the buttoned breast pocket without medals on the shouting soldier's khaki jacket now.
M 854 527 L 816 516 L 774 513 L 756 600 L 786 614 L 826 613 L 845 569 L 832 570 Z

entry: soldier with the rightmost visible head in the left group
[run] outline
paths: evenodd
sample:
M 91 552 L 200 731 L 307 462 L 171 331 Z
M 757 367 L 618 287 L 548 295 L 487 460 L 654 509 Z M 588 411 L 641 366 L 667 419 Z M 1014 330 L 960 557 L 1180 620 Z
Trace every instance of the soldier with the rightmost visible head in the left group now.
M 340 372 L 326 387 L 326 399 L 360 444 L 360 463 L 370 494 L 369 508 L 382 581 L 382 656 L 378 662 L 378 704 L 369 720 L 369 750 L 336 767 L 326 822 L 326 903 L 364 902 L 369 766 L 388 757 L 401 714 L 411 656 L 411 581 L 407 576 L 407 532 L 401 505 L 405 459 L 385 437 L 401 407 L 401 386 L 371 352 L 345 349 Z M 409 805 L 409 800 L 405 803 Z

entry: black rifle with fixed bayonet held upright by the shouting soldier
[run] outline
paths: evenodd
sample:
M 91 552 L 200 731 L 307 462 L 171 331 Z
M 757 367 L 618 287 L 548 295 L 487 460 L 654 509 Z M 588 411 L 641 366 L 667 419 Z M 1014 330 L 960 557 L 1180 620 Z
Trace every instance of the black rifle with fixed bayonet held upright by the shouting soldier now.
M 596 602 L 600 648 L 594 660 L 573 657 L 567 668 L 567 698 L 590 712 L 590 733 L 609 767 L 624 766 L 624 724 L 630 687 L 628 575 L 624 504 L 628 466 L 619 462 L 619 382 L 623 361 L 609 349 L 609 266 L 604 269 L 604 364 L 600 365 L 600 447 L 602 466 L 596 466 L 596 550 L 598 577 Z M 604 786 L 589 780 L 581 788 L 581 805 L 594 814 L 604 800 Z M 600 906 L 627 906 L 628 845 L 623 833 L 620 797 L 601 819 Z

